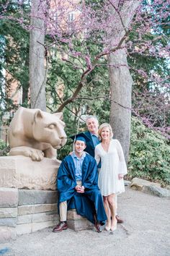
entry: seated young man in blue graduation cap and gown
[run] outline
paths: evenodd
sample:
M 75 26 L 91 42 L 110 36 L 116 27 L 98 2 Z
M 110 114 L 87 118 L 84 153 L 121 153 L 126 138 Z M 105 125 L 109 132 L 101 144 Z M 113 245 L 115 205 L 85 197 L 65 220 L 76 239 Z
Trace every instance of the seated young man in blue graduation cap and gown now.
M 73 153 L 63 159 L 58 169 L 58 205 L 60 222 L 53 232 L 68 229 L 67 210 L 75 209 L 76 212 L 94 223 L 97 232 L 102 232 L 102 225 L 107 220 L 98 187 L 97 163 L 91 155 L 84 152 L 86 140 L 84 133 L 71 137 Z

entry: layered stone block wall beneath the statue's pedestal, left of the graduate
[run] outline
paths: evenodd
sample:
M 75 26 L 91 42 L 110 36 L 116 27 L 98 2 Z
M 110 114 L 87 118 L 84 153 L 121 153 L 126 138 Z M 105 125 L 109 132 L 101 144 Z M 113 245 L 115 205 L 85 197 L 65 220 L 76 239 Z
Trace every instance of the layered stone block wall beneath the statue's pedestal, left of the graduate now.
M 55 226 L 57 192 L 0 188 L 0 242 Z

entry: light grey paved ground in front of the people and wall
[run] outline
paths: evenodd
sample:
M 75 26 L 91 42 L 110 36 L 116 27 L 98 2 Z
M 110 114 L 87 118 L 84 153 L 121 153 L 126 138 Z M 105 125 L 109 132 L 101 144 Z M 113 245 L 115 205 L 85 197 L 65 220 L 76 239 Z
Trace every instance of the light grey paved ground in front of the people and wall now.
M 70 229 L 55 234 L 52 229 L 43 229 L 1 244 L 0 255 L 170 255 L 170 200 L 127 188 L 118 197 L 118 207 L 125 223 L 119 224 L 113 234 Z

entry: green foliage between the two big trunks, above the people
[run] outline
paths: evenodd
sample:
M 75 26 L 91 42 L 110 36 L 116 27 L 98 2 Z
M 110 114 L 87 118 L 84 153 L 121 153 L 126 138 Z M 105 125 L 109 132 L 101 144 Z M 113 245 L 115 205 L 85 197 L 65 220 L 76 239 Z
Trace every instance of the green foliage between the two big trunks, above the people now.
M 86 54 L 86 47 L 81 45 L 80 40 L 73 41 L 76 51 Z M 101 46 L 96 46 L 94 42 L 88 40 L 86 43 L 94 56 L 99 52 Z M 66 46 L 65 46 L 66 47 Z M 65 51 L 67 48 L 65 49 Z M 73 92 L 81 81 L 83 70 L 86 70 L 86 62 L 83 56 L 73 58 L 67 56 L 68 61 L 62 61 L 61 56 L 53 48 L 53 57 L 50 59 L 50 69 L 47 82 L 47 106 L 50 111 L 56 111 L 61 101 L 66 101 L 73 95 Z M 99 61 L 101 66 L 96 67 L 84 81 L 84 87 L 76 100 L 69 103 L 63 109 L 63 121 L 66 123 L 66 135 L 70 137 L 79 132 L 86 131 L 85 116 L 96 115 L 99 123 L 109 121 L 109 76 L 106 66 L 106 59 Z M 61 88 L 61 90 L 60 90 Z M 59 95 L 61 93 L 61 95 Z M 58 96 L 61 96 L 59 98 Z M 50 103 L 49 103 L 50 102 Z M 63 159 L 73 150 L 71 140 L 58 151 L 58 158 Z

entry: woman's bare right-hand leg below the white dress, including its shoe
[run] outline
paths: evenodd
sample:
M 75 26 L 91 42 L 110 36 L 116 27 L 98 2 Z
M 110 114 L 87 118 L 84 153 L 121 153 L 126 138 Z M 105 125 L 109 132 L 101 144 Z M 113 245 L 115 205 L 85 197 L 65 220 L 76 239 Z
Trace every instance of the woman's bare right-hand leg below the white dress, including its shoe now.
M 117 228 L 115 194 L 108 195 L 107 200 L 109 203 L 110 214 L 112 216 L 111 230 L 114 231 Z

